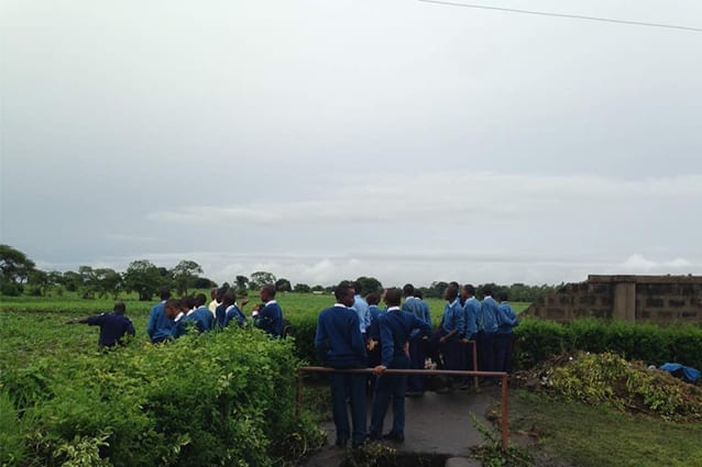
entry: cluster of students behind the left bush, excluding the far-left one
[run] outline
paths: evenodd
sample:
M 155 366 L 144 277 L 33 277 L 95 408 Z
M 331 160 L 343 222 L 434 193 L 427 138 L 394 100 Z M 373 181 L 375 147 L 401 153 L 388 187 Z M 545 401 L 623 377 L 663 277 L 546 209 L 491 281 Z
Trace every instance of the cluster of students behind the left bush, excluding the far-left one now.
M 283 334 L 283 310 L 275 300 L 275 286 L 265 286 L 261 289 L 262 303 L 256 304 L 251 313 L 253 325 L 265 331 L 273 337 Z M 212 289 L 211 301 L 207 304 L 205 293 L 198 293 L 194 298 L 175 300 L 171 298 L 169 290 L 163 290 L 161 302 L 151 310 L 146 333 L 154 344 L 176 340 L 194 329 L 198 333 L 220 331 L 232 323 L 243 327 L 248 323 L 244 308 L 248 299 L 242 300 L 241 307 L 237 303 L 234 291 Z

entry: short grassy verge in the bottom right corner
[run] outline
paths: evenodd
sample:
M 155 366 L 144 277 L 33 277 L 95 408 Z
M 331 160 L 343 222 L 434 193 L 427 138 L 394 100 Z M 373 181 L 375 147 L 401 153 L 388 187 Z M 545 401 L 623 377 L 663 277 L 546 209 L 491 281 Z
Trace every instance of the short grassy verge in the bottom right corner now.
M 513 433 L 538 437 L 542 457 L 560 459 L 546 465 L 702 466 L 702 422 L 665 422 L 520 390 L 511 400 L 509 419 Z

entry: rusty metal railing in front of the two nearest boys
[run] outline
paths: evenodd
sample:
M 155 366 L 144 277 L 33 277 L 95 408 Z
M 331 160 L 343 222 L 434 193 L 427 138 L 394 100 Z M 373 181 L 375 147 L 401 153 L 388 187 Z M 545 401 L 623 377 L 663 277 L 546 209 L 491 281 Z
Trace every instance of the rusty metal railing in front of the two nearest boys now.
M 303 411 L 303 388 L 305 382 L 303 375 L 306 373 L 352 373 L 372 374 L 373 368 L 358 369 L 334 369 L 329 367 L 300 367 L 297 370 L 297 408 L 296 414 L 299 419 Z M 451 378 L 475 377 L 478 378 L 501 378 L 502 381 L 502 420 L 500 423 L 502 431 L 502 449 L 507 451 L 509 445 L 509 388 L 507 387 L 507 374 L 504 371 L 473 371 L 473 370 L 447 370 L 447 369 L 386 369 L 383 375 L 407 375 L 407 376 L 448 376 Z M 478 386 L 476 386 L 478 388 Z

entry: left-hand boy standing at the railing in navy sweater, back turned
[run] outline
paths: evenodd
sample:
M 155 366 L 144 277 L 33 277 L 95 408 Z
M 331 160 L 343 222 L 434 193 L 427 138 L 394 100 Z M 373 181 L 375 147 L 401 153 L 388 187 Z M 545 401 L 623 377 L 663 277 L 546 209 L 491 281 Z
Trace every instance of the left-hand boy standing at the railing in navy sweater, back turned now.
M 365 343 L 361 336 L 359 315 L 353 305 L 353 288 L 341 282 L 334 289 L 337 303 L 319 314 L 315 348 L 327 367 L 336 369 L 365 368 Z M 351 437 L 352 446 L 365 443 L 365 380 L 363 374 L 332 373 L 329 377 L 333 421 L 337 426 L 336 445 L 344 447 Z M 352 431 L 349 430 L 347 399 L 351 401 Z

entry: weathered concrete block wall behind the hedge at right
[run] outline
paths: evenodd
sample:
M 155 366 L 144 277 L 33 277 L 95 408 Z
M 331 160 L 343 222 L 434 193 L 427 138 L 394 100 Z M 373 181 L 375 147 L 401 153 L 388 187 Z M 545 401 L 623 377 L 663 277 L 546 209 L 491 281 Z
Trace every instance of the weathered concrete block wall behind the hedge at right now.
M 702 324 L 702 276 L 589 276 L 525 311 L 568 323 L 580 318 Z

